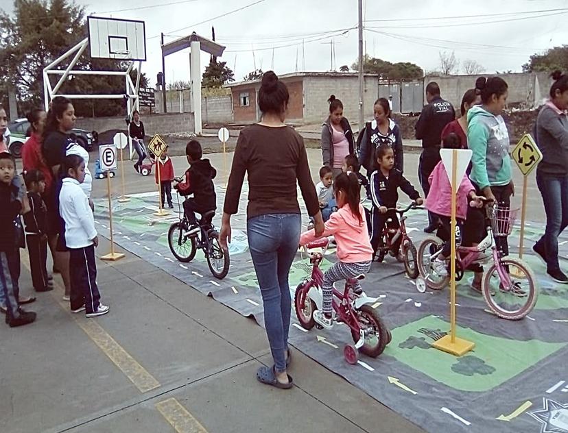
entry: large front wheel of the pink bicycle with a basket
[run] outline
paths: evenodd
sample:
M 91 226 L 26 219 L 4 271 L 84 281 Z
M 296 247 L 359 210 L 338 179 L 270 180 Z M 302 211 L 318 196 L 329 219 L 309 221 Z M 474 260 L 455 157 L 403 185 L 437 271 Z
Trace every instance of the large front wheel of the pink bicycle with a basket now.
M 532 311 L 538 290 L 536 279 L 528 264 L 516 258 L 501 260 L 503 271 L 508 269 L 510 282 L 499 277 L 497 264 L 484 273 L 482 293 L 487 306 L 502 319 L 519 320 Z

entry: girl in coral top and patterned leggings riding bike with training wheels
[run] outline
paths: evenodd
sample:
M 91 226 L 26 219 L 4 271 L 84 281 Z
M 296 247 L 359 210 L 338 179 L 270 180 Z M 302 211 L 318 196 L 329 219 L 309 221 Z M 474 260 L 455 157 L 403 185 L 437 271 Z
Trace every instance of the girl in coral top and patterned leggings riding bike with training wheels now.
M 322 236 L 334 236 L 338 246 L 338 262 L 324 273 L 322 294 L 322 311 L 313 312 L 313 320 L 324 328 L 333 326 L 332 297 L 333 283 L 367 273 L 372 261 L 365 212 L 361 205 L 360 186 L 357 175 L 353 172 L 341 173 L 335 178 L 333 185 L 335 200 L 339 210 L 333 212 L 325 223 Z M 300 245 L 307 245 L 316 239 L 313 230 L 300 236 Z M 354 292 L 362 291 L 359 282 Z

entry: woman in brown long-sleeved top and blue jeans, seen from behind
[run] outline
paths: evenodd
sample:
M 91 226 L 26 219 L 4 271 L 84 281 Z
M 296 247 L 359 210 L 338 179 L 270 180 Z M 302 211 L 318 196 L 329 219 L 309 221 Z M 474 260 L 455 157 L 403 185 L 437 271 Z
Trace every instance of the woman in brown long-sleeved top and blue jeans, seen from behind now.
M 285 125 L 289 101 L 286 85 L 268 71 L 262 77 L 259 108 L 262 121 L 244 128 L 237 140 L 225 197 L 220 242 L 230 242 L 230 216 L 236 214 L 248 174 L 247 237 L 264 307 L 264 323 L 273 367 L 261 367 L 257 379 L 278 388 L 292 388 L 288 330 L 292 299 L 288 275 L 298 250 L 302 219 L 296 181 L 316 235 L 324 231 L 302 137 Z

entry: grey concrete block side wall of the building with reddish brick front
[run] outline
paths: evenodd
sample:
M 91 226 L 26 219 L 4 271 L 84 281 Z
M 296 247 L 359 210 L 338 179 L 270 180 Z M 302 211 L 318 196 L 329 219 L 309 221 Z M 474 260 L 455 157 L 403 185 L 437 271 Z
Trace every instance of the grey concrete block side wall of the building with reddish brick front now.
M 305 77 L 304 78 L 304 123 L 323 122 L 329 115 L 327 99 L 335 95 L 343 103 L 343 114 L 352 124 L 359 119 L 359 81 L 356 76 Z M 379 79 L 365 76 L 364 116 L 372 119 L 372 106 L 379 95 Z

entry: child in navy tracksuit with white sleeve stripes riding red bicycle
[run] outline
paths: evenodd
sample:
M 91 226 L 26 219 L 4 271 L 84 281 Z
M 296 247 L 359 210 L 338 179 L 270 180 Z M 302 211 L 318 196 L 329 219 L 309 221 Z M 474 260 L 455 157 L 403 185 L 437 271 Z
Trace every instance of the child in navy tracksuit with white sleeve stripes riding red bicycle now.
M 399 188 L 416 201 L 416 204 L 423 203 L 420 194 L 414 186 L 405 179 L 403 174 L 394 169 L 394 151 L 388 145 L 380 145 L 375 151 L 375 160 L 377 169 L 370 176 L 370 191 L 372 198 L 372 233 L 371 246 L 375 254 L 382 241 L 383 227 L 387 220 L 388 228 L 396 231 L 399 227 L 399 217 L 394 210 L 388 208 L 396 208 L 399 201 Z M 401 237 L 392 245 L 391 255 L 399 258 L 399 248 L 401 246 Z M 400 260 L 400 258 L 399 258 Z

